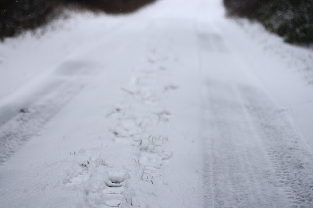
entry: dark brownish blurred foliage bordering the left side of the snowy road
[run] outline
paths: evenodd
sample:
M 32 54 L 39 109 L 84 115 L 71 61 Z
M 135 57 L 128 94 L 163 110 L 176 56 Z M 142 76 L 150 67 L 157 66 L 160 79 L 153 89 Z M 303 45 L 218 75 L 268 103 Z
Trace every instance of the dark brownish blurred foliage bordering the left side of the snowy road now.
M 0 39 L 44 25 L 57 17 L 65 7 L 118 14 L 133 12 L 153 1 L 155 0 L 0 0 Z

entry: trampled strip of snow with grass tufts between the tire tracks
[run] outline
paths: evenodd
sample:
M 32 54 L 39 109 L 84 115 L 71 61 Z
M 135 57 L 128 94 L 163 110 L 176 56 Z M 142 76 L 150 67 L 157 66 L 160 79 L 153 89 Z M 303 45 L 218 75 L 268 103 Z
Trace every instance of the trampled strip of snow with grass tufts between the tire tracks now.
M 159 60 L 149 62 L 157 65 Z M 162 94 L 178 87 L 159 86 L 157 79 L 163 71 L 151 68 L 135 69 L 129 85 L 121 87 L 123 100 L 105 113 L 111 123 L 107 158 L 83 149 L 71 153 L 79 159 L 74 171 L 67 171 L 63 184 L 84 192 L 85 200 L 78 206 L 140 207 L 146 203 L 142 194 L 153 196 L 153 186 L 168 184 L 162 180 L 162 168 L 172 150 L 168 137 L 153 127 L 169 122 L 172 113 L 159 101 Z

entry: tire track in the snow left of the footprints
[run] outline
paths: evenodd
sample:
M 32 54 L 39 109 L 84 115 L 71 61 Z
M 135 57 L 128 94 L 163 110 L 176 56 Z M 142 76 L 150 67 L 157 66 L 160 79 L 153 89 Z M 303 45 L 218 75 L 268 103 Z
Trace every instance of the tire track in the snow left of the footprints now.
M 1 103 L 0 115 L 5 117 L 0 119 L 0 164 L 8 160 L 29 139 L 39 135 L 47 122 L 78 95 L 90 80 L 103 71 L 104 66 L 99 63 L 103 55 L 97 53 L 103 45 L 109 47 L 114 44 L 111 42 L 112 38 L 121 36 L 123 41 L 118 46 L 114 44 L 114 53 L 110 54 L 110 57 L 114 57 L 134 44 L 136 37 L 124 38 L 123 33 L 132 25 L 117 27 L 110 35 L 91 44 L 87 52 L 83 50 L 67 57 L 68 59 L 63 60 L 44 76 L 38 77 L 39 80 L 30 83 L 29 89 L 33 90 L 32 92 L 22 92 L 26 94 L 22 96 L 23 102 L 13 99 L 8 103 Z M 142 26 L 147 28 L 151 25 Z M 91 51 L 93 53 L 90 53 Z M 6 108 L 11 111 L 6 111 Z

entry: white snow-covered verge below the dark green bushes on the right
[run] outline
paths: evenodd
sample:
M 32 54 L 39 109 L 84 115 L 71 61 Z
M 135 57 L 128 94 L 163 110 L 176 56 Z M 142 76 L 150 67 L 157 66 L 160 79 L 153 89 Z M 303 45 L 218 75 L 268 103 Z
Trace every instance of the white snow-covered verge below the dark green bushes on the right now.
M 312 146 L 313 49 L 285 43 L 283 38 L 247 19 L 234 21 L 252 40 L 251 47 L 263 49 L 246 52 L 246 57 L 260 57 L 253 63 L 252 73 L 259 77 L 273 101 L 286 111 L 301 137 Z

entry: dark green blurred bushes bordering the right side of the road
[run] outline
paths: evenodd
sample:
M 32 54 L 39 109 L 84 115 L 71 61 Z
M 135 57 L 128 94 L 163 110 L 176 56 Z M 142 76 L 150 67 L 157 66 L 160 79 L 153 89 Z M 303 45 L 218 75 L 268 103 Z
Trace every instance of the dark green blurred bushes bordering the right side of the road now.
M 313 0 L 224 0 L 228 14 L 260 21 L 297 44 L 313 43 Z

